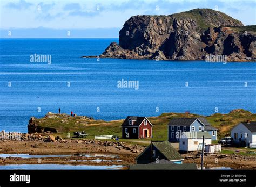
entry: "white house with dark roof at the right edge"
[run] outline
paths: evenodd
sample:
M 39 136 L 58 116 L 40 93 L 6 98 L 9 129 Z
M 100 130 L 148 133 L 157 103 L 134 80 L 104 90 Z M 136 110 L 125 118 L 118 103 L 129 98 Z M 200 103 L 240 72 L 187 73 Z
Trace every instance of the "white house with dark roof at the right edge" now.
M 235 142 L 244 141 L 246 146 L 256 148 L 256 121 L 241 122 L 231 130 Z

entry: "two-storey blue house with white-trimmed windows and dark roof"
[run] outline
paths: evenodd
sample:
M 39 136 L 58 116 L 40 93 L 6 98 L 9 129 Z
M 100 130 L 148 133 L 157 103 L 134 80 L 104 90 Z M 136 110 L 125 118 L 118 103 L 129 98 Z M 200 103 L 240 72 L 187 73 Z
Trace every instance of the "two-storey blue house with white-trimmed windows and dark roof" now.
M 172 118 L 168 124 L 168 141 L 178 142 L 183 132 L 208 132 L 212 140 L 217 140 L 217 128 L 205 118 Z

